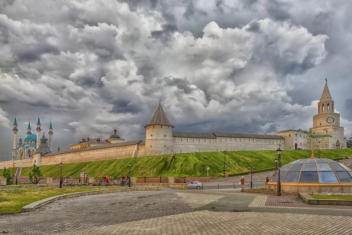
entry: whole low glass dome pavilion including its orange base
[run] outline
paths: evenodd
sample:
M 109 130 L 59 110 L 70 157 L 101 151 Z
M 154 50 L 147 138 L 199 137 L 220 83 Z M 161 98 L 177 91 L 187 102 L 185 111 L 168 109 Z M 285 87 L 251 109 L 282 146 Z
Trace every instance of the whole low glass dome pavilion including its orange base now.
M 276 190 L 278 172 L 266 183 Z M 352 192 L 352 170 L 326 158 L 298 159 L 281 167 L 281 190 L 295 192 Z

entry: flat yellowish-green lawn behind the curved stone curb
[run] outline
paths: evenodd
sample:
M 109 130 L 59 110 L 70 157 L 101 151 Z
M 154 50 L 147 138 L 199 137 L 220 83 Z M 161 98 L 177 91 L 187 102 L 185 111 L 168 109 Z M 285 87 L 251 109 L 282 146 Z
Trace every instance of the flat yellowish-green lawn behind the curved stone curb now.
M 108 187 L 109 189 L 118 187 Z M 25 205 L 48 197 L 72 192 L 106 189 L 106 187 L 50 188 L 50 189 L 15 189 L 0 191 L 0 213 L 20 211 Z

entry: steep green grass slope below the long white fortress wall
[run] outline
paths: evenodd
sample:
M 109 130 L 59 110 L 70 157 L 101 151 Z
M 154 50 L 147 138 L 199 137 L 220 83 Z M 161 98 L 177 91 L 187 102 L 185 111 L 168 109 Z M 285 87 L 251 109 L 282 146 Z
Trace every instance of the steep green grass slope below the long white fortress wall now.
M 281 154 L 283 164 L 290 163 L 296 159 L 309 158 L 311 150 L 286 150 Z M 352 156 L 352 148 L 341 150 L 320 150 L 322 158 L 341 158 Z M 227 173 L 239 173 L 247 171 L 248 165 L 256 166 L 256 170 L 275 167 L 274 158 L 277 157 L 276 151 L 229 151 L 226 152 Z M 318 151 L 315 151 L 318 157 Z M 62 175 L 77 177 L 79 172 L 87 172 L 88 177 L 99 177 L 108 174 L 119 177 L 128 174 L 128 163 L 131 162 L 132 177 L 201 177 L 209 176 L 221 177 L 224 168 L 224 152 L 196 152 L 196 153 L 176 153 L 164 154 L 138 158 L 122 158 L 101 161 L 87 161 L 82 163 L 68 163 L 62 167 Z M 46 165 L 40 166 L 44 177 L 60 177 L 60 166 Z M 28 176 L 30 167 L 22 169 L 22 176 Z

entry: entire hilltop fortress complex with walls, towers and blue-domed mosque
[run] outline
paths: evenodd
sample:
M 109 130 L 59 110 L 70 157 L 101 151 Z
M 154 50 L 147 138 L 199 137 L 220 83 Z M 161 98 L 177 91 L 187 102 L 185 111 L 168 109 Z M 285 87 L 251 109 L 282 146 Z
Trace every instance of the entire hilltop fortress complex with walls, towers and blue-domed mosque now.
M 17 119 L 13 123 L 13 154 L 18 166 L 29 166 L 25 159 L 35 158 L 37 165 L 74 163 L 116 158 L 140 157 L 158 154 L 185 152 L 215 152 L 241 150 L 299 150 L 310 148 L 346 148 L 344 128 L 339 126 L 340 114 L 334 112 L 334 101 L 328 89 L 327 79 L 318 103 L 318 114 L 313 116 L 313 127 L 309 131 L 289 129 L 273 135 L 233 132 L 180 132 L 173 131 L 172 125 L 159 102 L 149 123 L 144 126 L 145 140 L 126 141 L 113 130 L 107 139 L 82 138 L 71 144 L 69 150 L 52 152 L 52 123 L 50 121 L 48 139 L 40 138 L 40 118 L 38 116 L 36 134 L 31 133 L 28 123 L 27 136 L 17 146 Z M 47 143 L 48 142 L 48 143 Z M 40 147 L 42 146 L 42 147 Z M 31 161 L 32 162 L 32 161 Z M 2 165 L 12 166 L 1 162 Z M 31 163 L 32 164 L 32 163 Z

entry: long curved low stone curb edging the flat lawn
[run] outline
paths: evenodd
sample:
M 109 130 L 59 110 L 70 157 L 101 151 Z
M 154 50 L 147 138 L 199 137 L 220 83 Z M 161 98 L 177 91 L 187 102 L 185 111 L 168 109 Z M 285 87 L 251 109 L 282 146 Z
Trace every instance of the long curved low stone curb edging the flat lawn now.
M 43 205 L 49 204 L 51 202 L 55 202 L 60 199 L 65 199 L 65 198 L 73 198 L 73 197 L 94 195 L 94 194 L 101 194 L 101 193 L 109 193 L 109 192 L 153 191 L 153 190 L 163 190 L 163 186 L 101 189 L 101 190 L 92 190 L 92 191 L 85 191 L 85 192 L 67 193 L 67 194 L 58 195 L 58 196 L 54 196 L 54 197 L 48 197 L 48 198 L 42 199 L 40 201 L 28 204 L 28 205 L 24 206 L 20 212 L 34 211 L 35 209 L 42 207 Z M 14 213 L 18 213 L 18 212 L 14 212 Z

